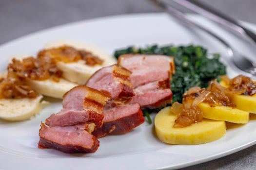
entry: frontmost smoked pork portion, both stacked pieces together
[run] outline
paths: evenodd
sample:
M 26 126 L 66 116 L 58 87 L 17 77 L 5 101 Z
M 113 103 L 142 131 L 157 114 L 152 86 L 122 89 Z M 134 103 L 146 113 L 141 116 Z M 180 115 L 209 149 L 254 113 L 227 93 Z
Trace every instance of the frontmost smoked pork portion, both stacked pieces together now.
M 79 85 L 63 96 L 63 108 L 41 123 L 39 148 L 64 153 L 94 153 L 98 139 L 91 133 L 103 124 L 103 106 L 110 99 L 106 91 Z

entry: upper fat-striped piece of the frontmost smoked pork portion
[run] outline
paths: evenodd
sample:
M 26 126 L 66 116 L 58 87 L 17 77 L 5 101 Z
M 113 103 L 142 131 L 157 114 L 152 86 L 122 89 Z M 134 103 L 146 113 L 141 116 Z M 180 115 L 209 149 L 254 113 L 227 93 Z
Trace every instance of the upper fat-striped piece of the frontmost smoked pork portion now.
M 79 85 L 63 96 L 63 108 L 45 120 L 52 126 L 71 126 L 78 123 L 93 122 L 96 127 L 103 123 L 102 110 L 110 99 L 110 94 Z

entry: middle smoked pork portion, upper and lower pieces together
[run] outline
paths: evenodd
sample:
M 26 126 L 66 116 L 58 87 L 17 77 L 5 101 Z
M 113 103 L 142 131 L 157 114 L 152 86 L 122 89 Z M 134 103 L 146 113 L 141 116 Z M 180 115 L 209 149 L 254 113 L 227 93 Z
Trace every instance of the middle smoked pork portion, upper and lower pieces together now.
M 93 132 L 96 137 L 124 134 L 144 122 L 138 103 L 125 105 L 134 96 L 130 75 L 127 69 L 113 65 L 101 68 L 87 81 L 89 87 L 111 94 L 103 109 L 103 125 Z

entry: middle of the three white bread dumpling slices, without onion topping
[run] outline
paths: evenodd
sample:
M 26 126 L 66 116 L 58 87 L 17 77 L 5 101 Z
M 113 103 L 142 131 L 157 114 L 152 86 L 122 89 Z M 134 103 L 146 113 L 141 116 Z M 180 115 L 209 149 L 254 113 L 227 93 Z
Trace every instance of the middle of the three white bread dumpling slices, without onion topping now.
M 22 60 L 24 58 L 27 58 L 26 55 L 19 55 L 12 57 L 17 60 Z M 12 61 L 9 61 L 10 63 Z M 30 78 L 26 78 L 25 80 L 26 84 L 29 85 L 33 90 L 35 90 L 37 93 L 42 94 L 44 96 L 49 96 L 53 98 L 62 99 L 62 96 L 69 91 L 71 88 L 77 86 L 77 84 L 69 82 L 63 78 L 59 78 L 59 81 L 54 81 L 52 79 L 46 79 L 46 80 L 33 80 Z

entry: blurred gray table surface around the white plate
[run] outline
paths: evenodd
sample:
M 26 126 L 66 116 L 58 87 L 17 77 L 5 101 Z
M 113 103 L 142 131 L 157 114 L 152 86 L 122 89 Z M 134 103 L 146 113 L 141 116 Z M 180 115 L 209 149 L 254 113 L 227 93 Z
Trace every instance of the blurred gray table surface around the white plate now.
M 256 23 L 256 0 L 203 0 Z M 0 0 L 0 44 L 68 22 L 118 14 L 160 12 L 147 0 Z M 256 145 L 182 170 L 256 170 Z

